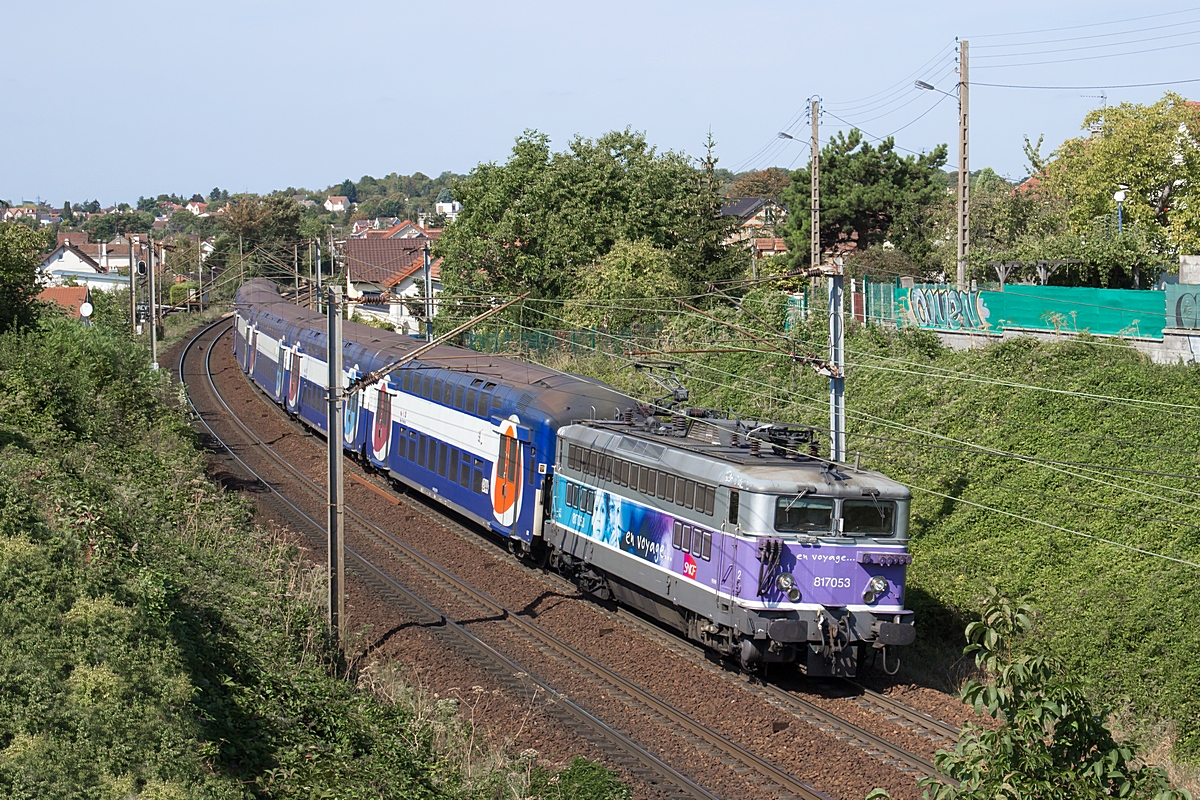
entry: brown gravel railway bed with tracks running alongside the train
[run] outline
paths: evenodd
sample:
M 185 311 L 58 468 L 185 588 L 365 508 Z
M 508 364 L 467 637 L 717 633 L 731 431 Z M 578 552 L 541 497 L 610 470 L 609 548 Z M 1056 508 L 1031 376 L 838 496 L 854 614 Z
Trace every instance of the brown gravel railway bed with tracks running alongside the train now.
M 235 462 L 238 471 L 242 473 L 245 479 L 265 487 L 266 492 L 259 489 L 262 499 L 298 530 L 311 535 L 314 542 L 322 542 L 318 551 L 323 549 L 324 524 L 319 522 L 323 519 L 319 509 L 323 509 L 325 504 L 325 489 L 305 469 L 295 465 L 299 461 L 311 469 L 310 464 L 316 462 L 323 469 L 323 461 L 319 458 L 298 459 L 295 456 L 288 458 L 281 455 L 274 446 L 276 441 L 264 440 L 230 408 L 211 367 L 216 343 L 222 339 L 229 327 L 228 320 L 214 324 L 197 335 L 184 349 L 180 359 L 180 375 L 193 393 L 193 408 L 208 429 L 214 449 L 223 451 L 232 462 Z M 226 372 L 238 372 L 238 374 L 227 374 L 222 380 L 238 380 L 244 385 L 244 390 L 251 387 L 240 371 L 227 369 Z M 235 389 L 235 386 L 230 385 L 229 389 Z M 302 429 L 288 420 L 282 410 L 257 393 L 257 387 L 253 391 L 260 404 L 259 410 L 264 411 L 263 416 L 274 416 L 276 425 L 287 422 L 302 431 L 301 435 L 310 439 L 307 444 L 311 449 L 311 434 L 307 429 Z M 245 414 L 246 410 L 244 409 L 242 413 Z M 218 428 L 224 435 L 218 433 Z M 253 462 L 257 469 L 250 462 Z M 272 475 L 277 477 L 272 480 Z M 324 480 L 324 475 L 316 477 L 322 482 Z M 396 497 L 373 481 L 350 471 L 347 471 L 347 477 L 386 497 L 392 504 L 401 504 L 406 509 L 430 518 L 431 522 L 442 528 L 455 530 L 463 539 L 473 542 L 475 547 L 484 546 L 493 551 L 497 558 L 511 560 L 511 557 L 502 554 L 493 542 L 481 539 L 478 531 L 458 524 L 452 517 L 431 509 L 424 501 Z M 528 697 L 533 702 L 533 698 L 541 693 L 547 714 L 578 735 L 580 739 L 590 742 L 598 751 L 605 753 L 612 765 L 624 769 L 637 781 L 655 788 L 658 793 L 668 796 L 715 796 L 701 786 L 700 781 L 703 781 L 709 787 L 727 789 L 726 795 L 732 793 L 737 783 L 743 783 L 746 790 L 742 790 L 740 794 L 745 796 L 826 796 L 770 760 L 732 741 L 728 735 L 692 718 L 677 704 L 655 697 L 596 658 L 581 652 L 580 649 L 563 640 L 560 636 L 556 636 L 542 625 L 527 619 L 527 612 L 510 610 L 502 602 L 398 541 L 392 534 L 349 506 L 346 510 L 346 528 L 348 541 L 355 545 L 355 548 L 347 548 L 348 567 L 354 575 L 389 602 L 402 608 L 407 616 L 422 624 L 445 648 L 488 672 L 498 684 L 514 696 Z M 400 567 L 400 570 L 395 567 Z M 412 575 L 419 579 L 404 579 L 401 583 L 396 577 L 397 572 Z M 526 572 L 529 573 L 530 578 L 541 579 L 558 589 L 574 591 L 574 585 L 558 576 Z M 409 588 L 416 583 L 424 584 L 427 589 Z M 415 591 L 421 591 L 422 596 L 418 596 Z M 431 594 L 445 600 L 436 601 L 438 604 L 434 606 L 430 600 Z M 833 738 L 834 741 L 829 744 L 833 744 L 834 748 L 838 748 L 836 741 L 840 740 L 858 752 L 876 759 L 884 774 L 862 776 L 865 784 L 895 783 L 895 778 L 899 776 L 892 774 L 888 777 L 887 774 L 890 771 L 888 768 L 908 776 L 925 775 L 932 771 L 932 766 L 922 757 L 888 742 L 878 734 L 841 720 L 796 692 L 770 684 L 743 681 L 737 675 L 721 669 L 720 666 L 710 663 L 701 650 L 624 610 L 616 614 L 599 609 L 599 607 L 596 610 L 607 614 L 614 621 L 619 621 L 624 628 L 640 632 L 674 656 L 685 658 L 706 669 L 709 674 L 719 676 L 720 681 L 738 686 L 737 691 L 744 688 L 761 702 L 785 711 L 791 718 L 799 718 L 816 726 Z M 456 619 L 461 621 L 455 621 Z M 474 627 L 480 621 L 486 621 L 491 626 L 488 630 L 503 628 L 506 638 L 512 644 L 518 643 L 518 645 L 509 646 L 509 644 L 499 644 L 494 640 L 488 642 L 468 630 L 468 625 Z M 602 632 L 604 628 L 601 628 Z M 508 655 L 502 652 L 502 649 Z M 515 650 L 523 655 L 515 656 Z M 541 676 L 535 676 L 528 668 L 522 667 L 518 660 L 534 664 Z M 568 678 L 563 679 L 559 675 Z M 590 692 L 576 691 L 580 681 L 583 681 L 592 691 L 600 692 L 623 706 L 614 723 L 601 720 L 602 709 L 594 708 L 594 704 L 589 704 L 593 705 L 590 710 L 583 708 L 581 703 L 586 700 L 580 699 L 580 697 Z M 949 726 L 938 723 L 936 720 L 882 694 L 856 690 L 854 697 L 847 698 L 847 702 L 876 711 L 877 715 L 886 715 L 893 722 L 935 742 L 956 735 L 956 732 Z M 606 716 L 611 720 L 613 715 L 610 705 Z M 640 724 L 637 723 L 638 718 L 641 720 Z M 779 722 L 773 724 L 778 729 L 787 727 L 787 723 L 784 723 L 782 728 L 779 728 L 781 724 Z M 630 733 L 622 733 L 614 726 Z M 656 728 L 658 733 L 647 736 L 648 728 Z M 660 741 L 664 733 L 667 733 L 668 738 L 680 741 L 673 746 L 666 746 Z M 661 756 L 637 744 L 635 736 L 642 742 L 658 744 Z M 680 747 L 682 745 L 685 746 Z M 842 745 L 841 748 L 845 750 L 846 745 Z M 836 758 L 829 758 L 826 752 L 828 747 L 820 750 L 822 752 L 811 754 L 817 763 L 824 763 L 827 759 L 830 765 L 838 763 Z M 691 751 L 691 757 L 683 756 L 683 751 Z M 688 775 L 668 764 L 667 760 L 686 769 Z M 776 763 L 779 762 L 776 760 Z M 834 766 L 834 769 L 836 768 Z M 840 781 L 834 783 L 841 784 Z M 910 783 L 911 787 L 911 777 L 906 783 Z M 853 794 L 856 792 L 850 790 L 846 796 Z

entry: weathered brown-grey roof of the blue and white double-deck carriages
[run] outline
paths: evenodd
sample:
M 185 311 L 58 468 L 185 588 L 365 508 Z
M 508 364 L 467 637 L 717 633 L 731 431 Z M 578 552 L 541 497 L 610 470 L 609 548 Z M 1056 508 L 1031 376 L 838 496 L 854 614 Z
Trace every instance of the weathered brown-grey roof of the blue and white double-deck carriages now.
M 287 324 L 312 330 L 316 338 L 324 339 L 326 336 L 325 314 L 286 302 L 280 297 L 278 287 L 265 278 L 244 284 L 238 291 L 238 303 L 257 306 Z M 425 344 L 392 331 L 350 321 L 342 323 L 342 339 L 347 345 L 361 345 L 378 354 L 384 363 L 402 359 Z M 580 419 L 613 419 L 636 403 L 631 397 L 592 378 L 452 344 L 439 344 L 424 353 L 414 363 L 487 378 L 508 386 L 518 393 L 518 408 L 540 410 L 554 428 Z

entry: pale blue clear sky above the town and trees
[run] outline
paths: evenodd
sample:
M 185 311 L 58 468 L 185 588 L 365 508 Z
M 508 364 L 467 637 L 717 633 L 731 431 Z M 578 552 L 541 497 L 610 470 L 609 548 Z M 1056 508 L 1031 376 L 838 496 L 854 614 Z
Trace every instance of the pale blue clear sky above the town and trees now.
M 632 127 L 694 156 L 712 131 L 721 167 L 796 167 L 808 149 L 778 133 L 809 138 L 812 96 L 822 140 L 895 131 L 907 151 L 948 143 L 953 166 L 958 103 L 912 82 L 953 95 L 956 37 L 972 170 L 1022 178 L 1024 136 L 1050 152 L 1105 102 L 1200 96 L 1200 82 L 1114 88 L 1200 78 L 1200 7 L 1170 2 L 14 2 L 0 198 L 466 173 L 527 128 L 562 149 Z

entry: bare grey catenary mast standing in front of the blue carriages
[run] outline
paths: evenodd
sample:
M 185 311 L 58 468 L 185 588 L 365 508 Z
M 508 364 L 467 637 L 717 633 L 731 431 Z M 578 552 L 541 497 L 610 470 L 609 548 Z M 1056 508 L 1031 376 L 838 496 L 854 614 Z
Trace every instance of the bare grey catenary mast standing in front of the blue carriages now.
M 329 630 L 346 648 L 346 539 L 342 494 L 342 288 L 329 287 Z

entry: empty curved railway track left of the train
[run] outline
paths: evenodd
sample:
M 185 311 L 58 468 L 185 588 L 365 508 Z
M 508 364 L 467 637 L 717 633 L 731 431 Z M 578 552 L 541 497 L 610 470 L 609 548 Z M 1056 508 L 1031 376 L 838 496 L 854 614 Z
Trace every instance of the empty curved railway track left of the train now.
M 211 371 L 211 354 L 216 342 L 228 331 L 229 326 L 230 323 L 228 320 L 215 323 L 200 331 L 185 345 L 179 365 L 180 378 L 185 381 L 188 378 L 203 378 L 202 386 L 205 387 L 205 391 L 220 409 L 223 409 L 224 416 L 236 427 L 244 445 L 265 457 L 278 470 L 290 476 L 288 480 L 301 493 L 323 504 L 326 497 L 324 488 L 275 452 L 269 443 L 260 439 L 245 422 L 238 419 L 216 386 Z M 203 369 L 200 371 L 200 375 L 196 375 L 187 369 L 188 354 L 199 351 L 200 348 L 203 348 Z M 320 541 L 324 534 L 323 524 L 313 519 L 313 517 L 296 505 L 280 486 L 276 486 L 259 471 L 254 470 L 238 453 L 239 447 L 223 439 L 216 432 L 200 409 L 196 407 L 194 402 L 192 408 L 211 435 L 215 449 L 224 452 L 247 477 L 266 487 L 270 492 L 269 501 L 271 505 L 284 517 L 298 523 L 298 529 L 310 531 L 317 541 Z M 403 542 L 394 539 L 385 530 L 353 509 L 346 509 L 346 522 L 348 533 L 356 537 L 364 537 L 372 546 L 384 549 L 390 557 L 404 564 L 406 567 L 421 573 L 431 583 L 451 594 L 456 600 L 469 604 L 479 613 L 503 625 L 516 638 L 527 642 L 545 657 L 552 658 L 574 674 L 600 687 L 608 696 L 624 702 L 632 712 L 648 716 L 656 724 L 672 730 L 696 750 L 710 754 L 712 758 L 724 763 L 734 774 L 740 775 L 743 780 L 755 784 L 763 792 L 780 798 L 828 800 L 827 795 L 817 792 L 808 783 L 799 781 L 785 770 L 760 758 L 742 745 L 728 740 L 719 732 L 697 722 L 678 708 L 654 697 L 637 684 L 598 663 L 541 626 L 504 607 L 486 593 L 458 579 Z M 439 522 L 442 524 L 448 523 L 445 519 Z M 467 630 L 463 625 L 456 622 L 448 614 L 421 597 L 418 597 L 408 588 L 389 576 L 386 570 L 374 564 L 359 551 L 347 547 L 347 558 L 348 566 L 350 566 L 353 572 L 371 583 L 382 594 L 397 602 L 409 615 L 433 622 L 434 625 L 430 627 L 431 631 L 444 631 L 442 638 L 449 646 L 462 652 L 473 662 L 485 664 L 485 668 L 494 674 L 502 684 L 526 696 L 529 696 L 529 692 L 535 691 L 534 687 L 536 687 L 536 691 L 545 692 L 546 697 L 553 698 L 553 703 L 545 704 L 548 714 L 559 718 L 566 727 L 577 732 L 581 738 L 592 742 L 601 752 L 605 752 L 616 764 L 628 770 L 638 780 L 656 787 L 668 796 L 715 798 L 715 795 L 700 783 L 674 769 L 613 726 L 587 711 L 569 697 L 554 690 L 550 684 L 535 678 L 528 669 L 522 668 L 508 656 L 499 652 L 494 646 Z

